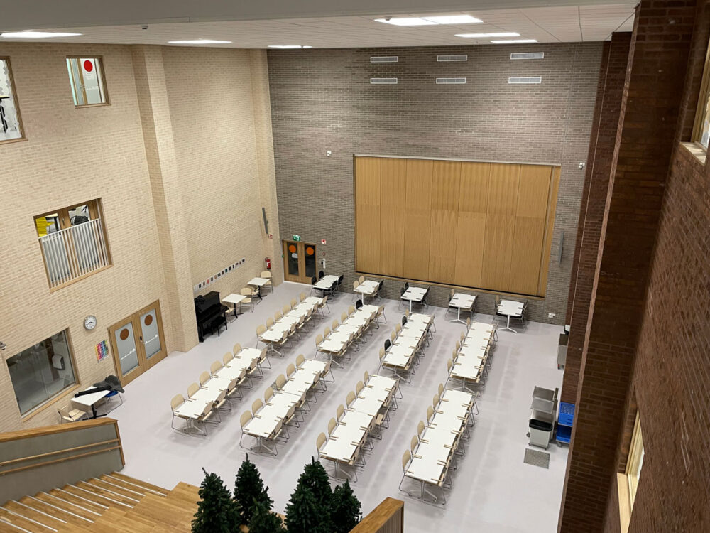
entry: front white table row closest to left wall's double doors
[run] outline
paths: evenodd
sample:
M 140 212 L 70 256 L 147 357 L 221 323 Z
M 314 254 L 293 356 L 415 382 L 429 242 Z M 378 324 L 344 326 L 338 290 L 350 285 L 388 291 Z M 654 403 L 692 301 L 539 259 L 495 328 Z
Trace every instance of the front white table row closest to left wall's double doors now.
M 265 350 L 258 348 L 242 348 L 234 354 L 228 364 L 210 375 L 207 382 L 203 383 L 200 390 L 176 409 L 173 415 L 186 421 L 183 431 L 193 434 L 197 430 L 196 423 L 206 421 L 207 415 L 214 409 L 222 393 L 225 397 L 237 391 L 238 387 L 247 378 L 247 372 L 266 359 Z

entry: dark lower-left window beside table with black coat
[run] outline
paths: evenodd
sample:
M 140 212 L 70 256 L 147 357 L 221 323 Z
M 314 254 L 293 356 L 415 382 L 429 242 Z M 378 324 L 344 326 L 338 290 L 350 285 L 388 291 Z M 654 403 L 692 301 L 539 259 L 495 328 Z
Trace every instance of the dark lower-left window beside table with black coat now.
M 77 382 L 67 330 L 13 355 L 7 367 L 21 414 Z

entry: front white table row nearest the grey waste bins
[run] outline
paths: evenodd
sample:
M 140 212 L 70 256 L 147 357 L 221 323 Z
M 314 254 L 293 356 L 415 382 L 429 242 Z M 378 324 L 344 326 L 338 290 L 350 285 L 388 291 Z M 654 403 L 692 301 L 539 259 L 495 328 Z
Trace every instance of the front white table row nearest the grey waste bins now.
M 438 501 L 436 495 L 425 488 L 430 485 L 439 488 L 446 503 L 444 483 L 466 426 L 473 421 L 475 400 L 475 394 L 444 389 L 439 404 L 435 406 L 434 416 L 427 421 L 424 433 L 418 436 L 419 442 L 411 454 L 411 461 L 408 464 L 403 461 L 402 482 L 405 478 L 418 481 L 422 500 L 428 492 Z M 406 451 L 405 458 L 408 455 L 410 452 Z M 402 483 L 400 490 L 401 487 Z

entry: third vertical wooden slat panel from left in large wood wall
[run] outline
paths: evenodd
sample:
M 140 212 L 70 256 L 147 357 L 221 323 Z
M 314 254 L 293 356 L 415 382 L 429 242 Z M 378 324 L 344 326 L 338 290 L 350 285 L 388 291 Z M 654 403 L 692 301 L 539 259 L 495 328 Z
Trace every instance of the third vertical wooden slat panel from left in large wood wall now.
M 428 279 L 434 161 L 407 161 L 404 276 Z

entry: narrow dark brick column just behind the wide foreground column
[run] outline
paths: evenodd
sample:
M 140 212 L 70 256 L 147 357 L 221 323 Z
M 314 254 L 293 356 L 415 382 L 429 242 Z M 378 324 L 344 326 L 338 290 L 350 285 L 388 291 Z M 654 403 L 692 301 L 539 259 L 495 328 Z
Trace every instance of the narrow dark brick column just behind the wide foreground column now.
M 570 299 L 567 302 L 567 323 L 570 328 L 567 362 L 564 365 L 564 380 L 560 394 L 562 402 L 577 401 L 581 350 L 589 318 L 589 302 L 594 283 L 596 257 L 599 254 L 601 225 L 621 114 L 630 43 L 630 33 L 614 33 L 611 42 L 604 43 L 605 55 L 602 57 L 595 108 L 596 122 L 589 143 L 589 161 L 579 209 L 577 247 L 574 251 L 572 282 L 569 286 Z

